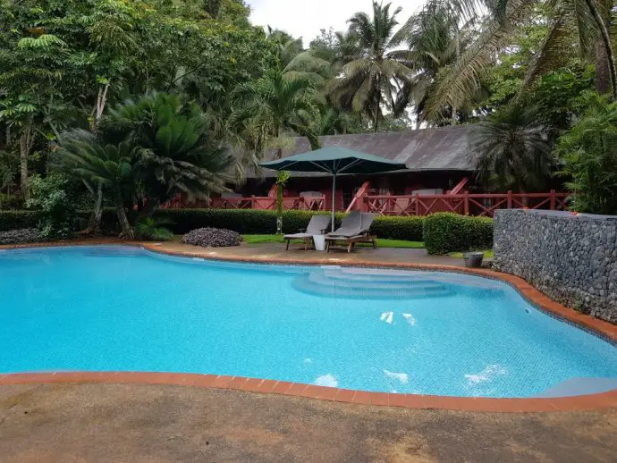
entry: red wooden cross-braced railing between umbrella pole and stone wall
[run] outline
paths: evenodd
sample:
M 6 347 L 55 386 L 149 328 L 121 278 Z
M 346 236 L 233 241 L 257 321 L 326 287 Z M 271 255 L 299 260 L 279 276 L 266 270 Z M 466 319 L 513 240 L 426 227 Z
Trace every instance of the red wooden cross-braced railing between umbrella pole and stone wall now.
M 565 210 L 567 193 L 492 193 L 422 196 L 365 196 L 361 210 L 379 215 L 429 215 L 452 212 L 492 217 L 497 209 Z

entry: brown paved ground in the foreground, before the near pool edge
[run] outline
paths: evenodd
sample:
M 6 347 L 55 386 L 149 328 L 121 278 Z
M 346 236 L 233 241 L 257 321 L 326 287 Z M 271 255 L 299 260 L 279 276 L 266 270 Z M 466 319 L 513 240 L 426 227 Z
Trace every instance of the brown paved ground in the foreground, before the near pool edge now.
M 617 409 L 481 414 L 136 384 L 0 388 L 3 462 L 609 462 Z

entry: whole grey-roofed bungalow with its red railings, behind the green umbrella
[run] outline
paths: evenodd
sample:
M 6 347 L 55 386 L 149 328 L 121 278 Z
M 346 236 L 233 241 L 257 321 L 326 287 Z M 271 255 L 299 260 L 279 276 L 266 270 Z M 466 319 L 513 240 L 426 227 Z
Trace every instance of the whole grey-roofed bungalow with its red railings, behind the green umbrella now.
M 376 175 L 337 176 L 335 206 L 338 211 L 360 209 L 385 215 L 427 215 L 451 211 L 470 215 L 493 215 L 504 207 L 565 208 L 563 193 L 486 193 L 475 181 L 476 164 L 470 156 L 473 125 L 361 133 L 320 138 L 322 147 L 350 147 L 382 156 L 407 166 L 407 170 Z M 283 157 L 310 151 L 306 138 L 293 139 Z M 269 151 L 265 160 L 276 158 Z M 276 172 L 250 174 L 235 192 L 212 198 L 217 208 L 274 209 Z M 326 173 L 291 173 L 283 192 L 286 209 L 329 210 L 332 178 Z M 182 207 L 170 204 L 169 207 Z

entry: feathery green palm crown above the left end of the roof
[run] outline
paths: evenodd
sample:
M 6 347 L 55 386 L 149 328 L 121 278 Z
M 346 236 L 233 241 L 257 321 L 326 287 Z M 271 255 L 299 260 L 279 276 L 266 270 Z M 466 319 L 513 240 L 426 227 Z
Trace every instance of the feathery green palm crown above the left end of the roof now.
M 285 134 L 308 137 L 318 146 L 319 107 L 315 84 L 301 75 L 271 70 L 258 80 L 239 85 L 232 95 L 229 126 L 261 156 Z M 277 147 L 278 157 L 283 147 Z

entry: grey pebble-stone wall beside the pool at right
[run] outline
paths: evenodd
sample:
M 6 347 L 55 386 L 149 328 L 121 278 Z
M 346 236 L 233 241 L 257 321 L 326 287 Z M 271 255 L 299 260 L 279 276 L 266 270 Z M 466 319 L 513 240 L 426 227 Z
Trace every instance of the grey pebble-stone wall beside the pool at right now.
M 568 307 L 617 323 L 617 216 L 502 210 L 494 269 Z

